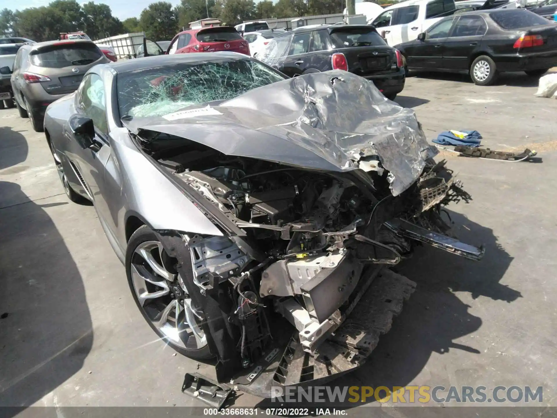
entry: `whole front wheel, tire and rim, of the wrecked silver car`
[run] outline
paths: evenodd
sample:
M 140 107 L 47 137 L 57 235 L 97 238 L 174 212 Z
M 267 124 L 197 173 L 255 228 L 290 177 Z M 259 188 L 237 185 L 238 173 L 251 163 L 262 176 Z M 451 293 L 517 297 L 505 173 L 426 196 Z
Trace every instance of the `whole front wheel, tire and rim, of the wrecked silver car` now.
M 125 263 L 135 303 L 159 338 L 184 356 L 213 357 L 201 320 L 175 269 L 177 260 L 167 254 L 148 226 L 131 235 Z

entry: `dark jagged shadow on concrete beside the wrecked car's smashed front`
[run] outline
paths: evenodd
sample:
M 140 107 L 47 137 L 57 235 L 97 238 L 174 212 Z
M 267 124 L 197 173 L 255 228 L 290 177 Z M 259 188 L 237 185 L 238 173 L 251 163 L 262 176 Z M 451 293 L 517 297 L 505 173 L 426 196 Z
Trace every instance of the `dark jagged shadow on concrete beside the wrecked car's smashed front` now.
M 325 385 L 339 386 L 341 389 L 345 386 L 404 387 L 418 376 L 432 353 L 444 354 L 457 349 L 482 355 L 478 347 L 453 342 L 476 332 L 482 325 L 482 318 L 470 314 L 470 306 L 463 303 L 455 292 L 466 291 L 472 298 L 500 300 L 501 309 L 506 309 L 506 304 L 520 298 L 521 294 L 499 283 L 509 268 L 512 257 L 497 242 L 492 230 L 459 213 L 450 212 L 450 216 L 457 228 L 463 225 L 456 231 L 460 240 L 474 245 L 485 244 L 484 258 L 481 261 L 471 261 L 428 245 L 417 247 L 411 259 L 404 260 L 394 268 L 397 273 L 417 283 L 416 291 L 405 302 L 402 313 L 393 320 L 390 331 L 379 339 L 379 344 L 367 363 Z M 431 379 L 431 382 L 420 383 L 447 383 L 446 373 L 433 375 L 432 372 Z M 447 384 L 448 386 L 450 385 Z M 350 409 L 375 401 L 373 396 L 367 398 L 366 402 L 348 402 L 348 398 L 350 395 L 347 393 L 344 402 L 331 404 L 327 401 L 306 405 L 285 403 L 283 406 Z M 258 406 L 277 405 L 280 403 L 263 400 Z

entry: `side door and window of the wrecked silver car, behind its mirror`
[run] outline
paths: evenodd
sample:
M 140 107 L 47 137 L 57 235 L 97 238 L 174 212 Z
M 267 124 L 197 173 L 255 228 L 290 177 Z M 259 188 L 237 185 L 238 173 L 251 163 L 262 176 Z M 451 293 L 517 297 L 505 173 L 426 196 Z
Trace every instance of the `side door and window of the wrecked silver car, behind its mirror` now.
M 71 115 L 63 130 L 70 139 L 67 154 L 70 157 L 77 177 L 85 183 L 85 189 L 99 216 L 103 220 L 109 216 L 109 208 L 104 198 L 105 165 L 110 157 L 108 118 L 106 115 L 106 90 L 101 77 L 95 73 L 85 75 L 76 93 L 76 113 Z M 90 118 L 95 128 L 93 144 L 83 148 L 72 132 L 76 120 Z M 81 180 L 80 179 L 80 180 Z

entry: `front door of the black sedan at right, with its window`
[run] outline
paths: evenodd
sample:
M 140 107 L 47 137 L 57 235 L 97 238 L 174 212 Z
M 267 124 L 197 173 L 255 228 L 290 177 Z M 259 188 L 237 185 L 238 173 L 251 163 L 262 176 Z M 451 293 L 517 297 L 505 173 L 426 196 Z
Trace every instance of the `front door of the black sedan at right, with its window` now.
M 443 64 L 443 44 L 451 33 L 454 17 L 437 22 L 425 32 L 425 38 L 417 40 L 407 49 L 407 65 L 410 69 L 438 70 Z

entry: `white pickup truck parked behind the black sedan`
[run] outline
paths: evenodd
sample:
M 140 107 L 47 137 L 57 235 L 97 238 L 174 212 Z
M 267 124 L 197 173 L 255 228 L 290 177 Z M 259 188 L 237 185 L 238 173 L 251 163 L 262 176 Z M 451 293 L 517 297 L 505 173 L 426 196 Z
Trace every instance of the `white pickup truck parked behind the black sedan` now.
M 455 13 L 453 0 L 408 0 L 393 4 L 371 23 L 390 46 L 413 41 L 433 23 Z

